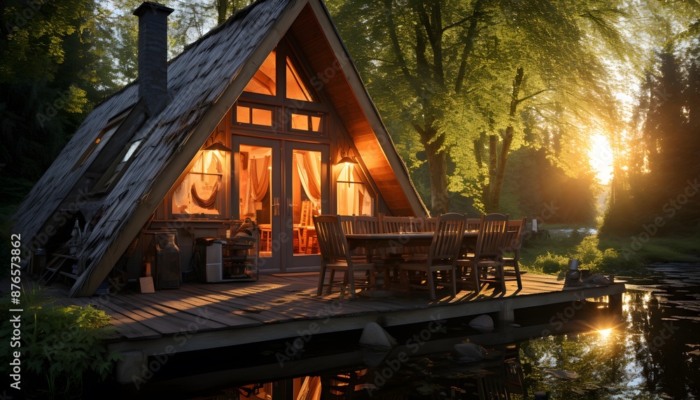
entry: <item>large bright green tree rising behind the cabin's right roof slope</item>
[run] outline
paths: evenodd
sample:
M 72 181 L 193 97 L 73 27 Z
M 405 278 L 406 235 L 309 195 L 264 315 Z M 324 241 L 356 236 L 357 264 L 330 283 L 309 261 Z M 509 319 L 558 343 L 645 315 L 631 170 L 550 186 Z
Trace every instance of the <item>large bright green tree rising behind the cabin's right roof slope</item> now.
M 616 6 L 345 0 L 330 9 L 402 155 L 428 164 L 439 213 L 449 191 L 498 209 L 508 155 L 524 144 L 524 106 L 546 125 L 573 127 L 570 141 L 615 120 L 601 57 L 622 55 Z

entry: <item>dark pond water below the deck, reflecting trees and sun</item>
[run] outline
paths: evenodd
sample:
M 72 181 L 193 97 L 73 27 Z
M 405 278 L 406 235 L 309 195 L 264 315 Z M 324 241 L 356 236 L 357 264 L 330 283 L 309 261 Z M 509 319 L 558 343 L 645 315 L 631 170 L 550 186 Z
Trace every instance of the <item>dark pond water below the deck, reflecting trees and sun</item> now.
M 651 265 L 617 279 L 628 289 L 621 319 L 595 302 L 540 310 L 532 326 L 491 333 L 436 319 L 388 329 L 399 344 L 388 352 L 359 347 L 353 331 L 314 336 L 298 351 L 293 340 L 217 350 L 161 373 L 173 398 L 192 399 L 318 399 L 321 386 L 321 398 L 333 386 L 339 399 L 349 387 L 353 399 L 505 399 L 505 390 L 510 399 L 700 399 L 700 265 Z M 477 345 L 485 353 L 475 357 Z M 174 385 L 188 365 L 200 366 L 201 387 Z M 211 387 L 212 377 L 225 386 Z

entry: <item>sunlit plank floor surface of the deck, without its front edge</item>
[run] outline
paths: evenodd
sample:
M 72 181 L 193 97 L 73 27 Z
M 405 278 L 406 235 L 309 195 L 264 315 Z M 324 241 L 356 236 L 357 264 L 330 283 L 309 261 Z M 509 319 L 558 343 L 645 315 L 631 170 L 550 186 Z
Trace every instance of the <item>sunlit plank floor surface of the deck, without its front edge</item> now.
M 457 296 L 451 296 L 447 289 L 440 289 L 437 301 L 430 301 L 427 291 L 411 291 L 407 296 L 400 287 L 394 287 L 395 293 L 389 297 L 358 295 L 355 300 L 349 300 L 347 296 L 341 299 L 337 290 L 332 294 L 316 296 L 318 275 L 315 274 L 261 275 L 256 282 L 186 282 L 180 289 L 160 290 L 151 294 L 126 289 L 100 298 L 68 298 L 66 291 L 51 288 L 50 296 L 60 305 L 94 304 L 104 310 L 111 316 L 116 332 L 109 340 L 119 342 L 165 340 L 167 336 L 188 329 L 193 323 L 202 334 L 209 332 L 218 335 L 220 331 L 224 334 L 226 332 L 223 331 L 227 330 L 245 331 L 284 323 L 295 326 L 294 323 L 304 320 L 318 321 L 328 317 L 339 317 L 337 322 L 344 325 L 349 320 L 344 317 L 370 321 L 386 315 L 389 320 L 410 321 L 410 315 L 414 315 L 412 313 L 429 315 L 433 308 L 435 312 L 442 312 L 440 308 L 450 308 L 447 314 L 454 315 L 458 310 L 465 310 L 464 305 L 469 303 L 475 303 L 476 308 L 490 310 L 488 306 L 483 307 L 490 301 L 512 298 L 519 304 L 537 305 L 541 296 L 570 299 L 577 293 L 587 293 L 576 288 L 563 290 L 563 280 L 549 275 L 526 273 L 522 275 L 522 282 L 523 289 L 520 291 L 517 291 L 516 282 L 507 282 L 505 296 L 495 292 L 492 287 L 484 288 L 475 295 L 465 286 Z M 451 308 L 453 306 L 456 308 Z M 202 323 L 202 318 L 206 319 L 206 323 Z M 284 332 L 285 329 L 279 331 Z M 246 332 L 241 335 L 255 337 L 255 333 Z M 221 335 L 217 337 L 225 338 Z

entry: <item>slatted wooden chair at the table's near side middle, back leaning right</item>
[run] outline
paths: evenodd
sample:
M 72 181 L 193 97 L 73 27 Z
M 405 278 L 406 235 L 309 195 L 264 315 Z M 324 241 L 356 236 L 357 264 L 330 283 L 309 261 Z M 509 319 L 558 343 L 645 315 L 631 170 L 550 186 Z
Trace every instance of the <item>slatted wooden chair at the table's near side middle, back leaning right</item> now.
M 442 214 L 437 219 L 437 227 L 433 242 L 430 243 L 428 250 L 428 259 L 426 263 L 401 263 L 399 269 L 405 273 L 405 279 L 409 290 L 428 289 L 430 298 L 435 300 L 435 289 L 437 286 L 446 286 L 447 282 L 437 280 L 438 271 L 447 272 L 449 275 L 449 284 L 452 289 L 452 296 L 457 295 L 456 287 L 456 261 L 459 255 L 459 249 L 464 236 L 465 216 L 463 214 L 449 213 Z M 409 273 L 416 271 L 423 273 L 425 276 L 419 284 L 410 282 Z M 426 284 L 421 284 L 425 280 Z

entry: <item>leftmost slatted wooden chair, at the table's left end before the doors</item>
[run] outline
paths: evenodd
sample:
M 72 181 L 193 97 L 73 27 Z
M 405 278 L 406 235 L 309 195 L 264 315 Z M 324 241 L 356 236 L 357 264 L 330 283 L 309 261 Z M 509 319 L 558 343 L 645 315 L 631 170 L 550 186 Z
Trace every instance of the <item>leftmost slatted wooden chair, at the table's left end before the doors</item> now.
M 365 284 L 363 275 L 361 287 L 374 286 L 374 264 L 358 263 L 353 261 L 349 251 L 348 242 L 345 238 L 338 215 L 314 216 L 314 226 L 316 227 L 316 238 L 318 247 L 321 249 L 321 274 L 318 277 L 318 296 L 323 293 L 323 287 L 328 287 L 330 293 L 332 287 L 341 287 L 340 296 L 344 294 L 347 287 L 350 298 L 355 298 L 356 285 L 355 272 L 365 271 L 369 275 L 369 284 Z M 325 273 L 329 271 L 328 283 L 325 282 Z M 342 280 L 335 280 L 336 271 L 343 274 Z

